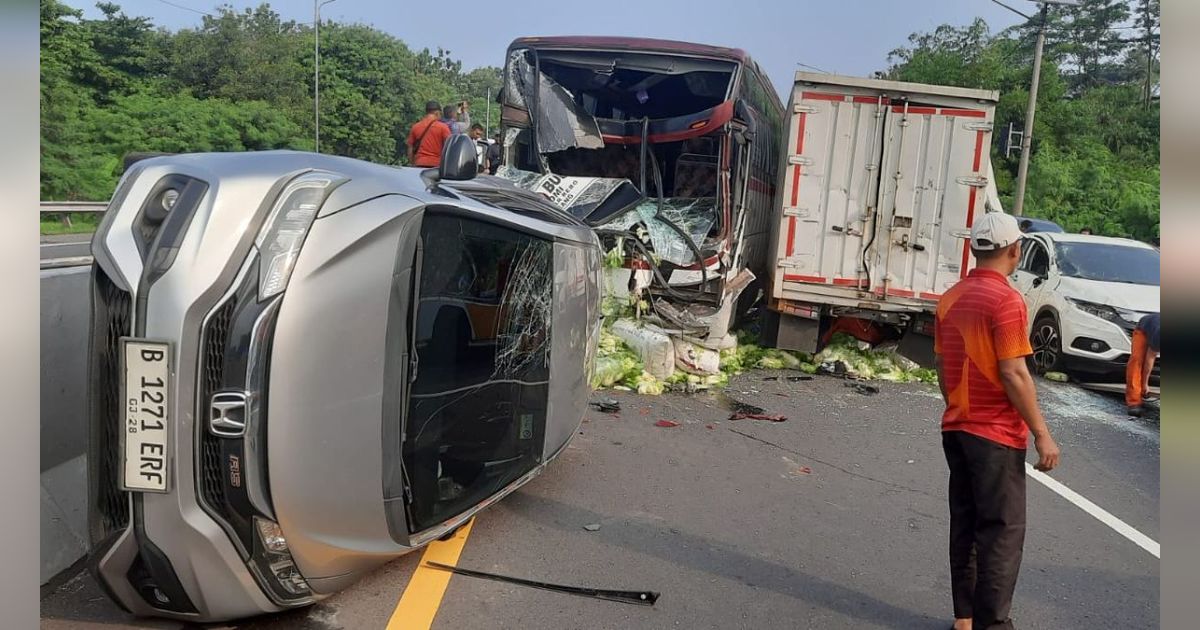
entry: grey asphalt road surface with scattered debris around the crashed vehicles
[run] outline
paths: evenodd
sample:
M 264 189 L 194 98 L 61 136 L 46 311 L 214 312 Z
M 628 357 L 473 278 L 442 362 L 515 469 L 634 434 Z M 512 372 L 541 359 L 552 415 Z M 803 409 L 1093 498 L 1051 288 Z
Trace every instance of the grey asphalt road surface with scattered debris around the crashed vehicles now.
M 948 628 L 936 390 L 881 383 L 864 395 L 833 378 L 770 374 L 744 374 L 727 396 L 611 394 L 623 410 L 589 413 L 541 478 L 475 520 L 458 560 L 656 590 L 654 607 L 455 576 L 433 628 Z M 1157 540 L 1157 420 L 1127 419 L 1117 398 L 1072 385 L 1040 388 L 1063 450 L 1052 476 Z M 730 421 L 728 397 L 787 421 Z M 384 628 L 418 562 L 409 554 L 310 610 L 233 626 Z M 1028 480 L 1019 626 L 1157 628 L 1158 571 L 1151 553 Z M 85 576 L 43 594 L 42 613 L 50 629 L 179 628 L 130 619 Z

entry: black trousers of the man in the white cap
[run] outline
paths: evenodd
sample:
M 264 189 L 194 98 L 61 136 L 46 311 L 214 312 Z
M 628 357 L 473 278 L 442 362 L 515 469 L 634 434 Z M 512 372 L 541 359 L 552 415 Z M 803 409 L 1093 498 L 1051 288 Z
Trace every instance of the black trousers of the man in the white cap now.
M 942 432 L 950 468 L 954 617 L 974 630 L 1013 628 L 1008 613 L 1025 545 L 1025 450 Z

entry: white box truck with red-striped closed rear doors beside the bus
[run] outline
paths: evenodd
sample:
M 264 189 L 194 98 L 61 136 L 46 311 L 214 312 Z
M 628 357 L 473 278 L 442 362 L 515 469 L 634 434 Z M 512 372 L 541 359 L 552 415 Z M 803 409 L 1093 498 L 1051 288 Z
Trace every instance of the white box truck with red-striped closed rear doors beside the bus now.
M 989 160 L 998 97 L 796 73 L 764 343 L 815 352 L 833 330 L 859 330 L 932 359 L 937 299 L 973 264 L 971 223 L 1002 211 Z

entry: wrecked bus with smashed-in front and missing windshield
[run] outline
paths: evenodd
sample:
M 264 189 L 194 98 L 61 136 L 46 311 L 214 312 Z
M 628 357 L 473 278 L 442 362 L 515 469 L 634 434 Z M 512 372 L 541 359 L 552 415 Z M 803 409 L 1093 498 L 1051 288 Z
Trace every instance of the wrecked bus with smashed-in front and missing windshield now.
M 712 349 L 767 277 L 784 107 L 743 52 L 629 37 L 514 41 L 504 167 L 592 226 L 608 294 Z

